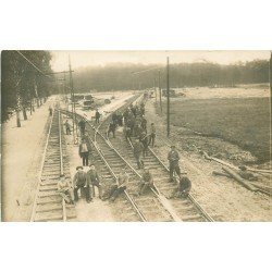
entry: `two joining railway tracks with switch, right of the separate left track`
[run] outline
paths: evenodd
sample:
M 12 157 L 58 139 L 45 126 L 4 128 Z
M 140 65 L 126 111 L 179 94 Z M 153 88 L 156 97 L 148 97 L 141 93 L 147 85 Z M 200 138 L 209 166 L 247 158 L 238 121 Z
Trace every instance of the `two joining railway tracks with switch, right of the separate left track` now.
M 140 98 L 137 98 L 136 101 L 140 101 Z M 122 112 L 131 102 L 120 108 L 119 111 Z M 149 154 L 144 161 L 154 177 L 156 189 L 151 189 L 143 196 L 137 196 L 140 173 L 136 170 L 132 143 L 127 143 L 123 135 L 111 140 L 107 138 L 104 133 L 110 122 L 110 115 L 97 127 L 85 116 L 79 114 L 76 114 L 76 116 L 78 120 L 84 119 L 87 122 L 89 141 L 92 149 L 96 150 L 94 160 L 100 164 L 98 166 L 99 173 L 101 173 L 106 183 L 112 185 L 121 169 L 127 169 L 131 178 L 125 196 L 140 221 L 213 221 L 191 195 L 185 199 L 166 199 L 165 196 L 169 196 L 176 188 L 176 184 L 169 183 L 168 168 L 151 149 L 149 149 Z M 136 220 L 136 217 L 134 219 Z

